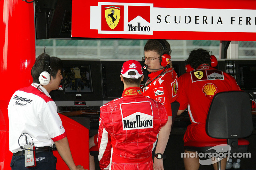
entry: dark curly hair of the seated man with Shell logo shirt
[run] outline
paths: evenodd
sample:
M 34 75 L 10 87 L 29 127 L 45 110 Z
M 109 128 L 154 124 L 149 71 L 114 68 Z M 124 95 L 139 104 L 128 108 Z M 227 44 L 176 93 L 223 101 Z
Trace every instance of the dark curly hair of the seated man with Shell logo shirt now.
M 194 69 L 197 69 L 201 64 L 208 64 L 211 66 L 211 55 L 205 49 L 194 49 L 190 52 L 186 62 Z

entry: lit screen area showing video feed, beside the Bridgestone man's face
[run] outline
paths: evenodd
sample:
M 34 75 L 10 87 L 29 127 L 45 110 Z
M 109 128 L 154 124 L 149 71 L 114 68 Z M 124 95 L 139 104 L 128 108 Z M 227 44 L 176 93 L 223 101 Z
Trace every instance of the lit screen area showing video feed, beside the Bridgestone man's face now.
M 65 92 L 92 92 L 90 65 L 70 65 L 63 68 Z

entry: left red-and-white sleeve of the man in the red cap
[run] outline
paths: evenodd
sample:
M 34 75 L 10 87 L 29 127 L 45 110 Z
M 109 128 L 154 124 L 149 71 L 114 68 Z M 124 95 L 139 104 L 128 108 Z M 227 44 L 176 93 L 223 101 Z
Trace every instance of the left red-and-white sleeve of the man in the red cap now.
M 100 122 L 99 122 L 99 132 L 98 132 L 98 149 L 99 149 L 99 165 L 100 169 L 108 169 L 110 166 L 111 159 L 111 143 L 110 135 L 104 128 L 104 116 L 107 114 L 107 109 L 104 106 L 100 108 Z

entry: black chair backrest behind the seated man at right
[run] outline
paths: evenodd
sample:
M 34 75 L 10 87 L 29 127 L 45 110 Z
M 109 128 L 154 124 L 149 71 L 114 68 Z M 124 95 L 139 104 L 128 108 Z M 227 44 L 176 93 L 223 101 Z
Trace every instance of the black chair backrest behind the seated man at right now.
M 206 119 L 206 133 L 213 138 L 243 138 L 252 134 L 249 94 L 244 91 L 217 93 Z

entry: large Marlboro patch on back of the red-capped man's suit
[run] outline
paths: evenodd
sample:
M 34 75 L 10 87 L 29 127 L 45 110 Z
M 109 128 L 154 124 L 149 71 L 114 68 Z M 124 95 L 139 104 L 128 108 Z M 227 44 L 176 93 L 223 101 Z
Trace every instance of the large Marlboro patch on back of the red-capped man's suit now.
M 120 108 L 123 130 L 153 128 L 154 117 L 150 102 L 123 103 Z

